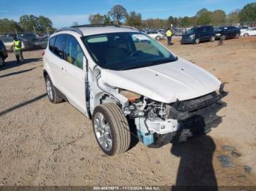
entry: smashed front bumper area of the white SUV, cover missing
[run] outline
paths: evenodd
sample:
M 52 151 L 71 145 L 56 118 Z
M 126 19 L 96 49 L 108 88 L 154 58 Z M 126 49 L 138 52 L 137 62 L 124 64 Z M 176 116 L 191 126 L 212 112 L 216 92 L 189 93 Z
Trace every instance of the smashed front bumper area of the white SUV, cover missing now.
M 226 106 L 220 101 L 225 95 L 227 93 L 221 91 L 189 101 L 176 101 L 167 106 L 166 119 L 135 118 L 140 141 L 150 147 L 159 147 L 208 133 L 222 122 L 222 117 L 217 112 Z

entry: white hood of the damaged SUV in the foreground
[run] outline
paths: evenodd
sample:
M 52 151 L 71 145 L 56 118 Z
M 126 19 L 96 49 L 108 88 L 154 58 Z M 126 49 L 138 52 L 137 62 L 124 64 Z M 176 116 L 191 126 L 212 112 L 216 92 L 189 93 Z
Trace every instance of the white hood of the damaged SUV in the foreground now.
M 183 58 L 140 69 L 113 71 L 102 69 L 108 85 L 140 93 L 155 101 L 184 101 L 219 90 L 221 82 L 208 71 Z

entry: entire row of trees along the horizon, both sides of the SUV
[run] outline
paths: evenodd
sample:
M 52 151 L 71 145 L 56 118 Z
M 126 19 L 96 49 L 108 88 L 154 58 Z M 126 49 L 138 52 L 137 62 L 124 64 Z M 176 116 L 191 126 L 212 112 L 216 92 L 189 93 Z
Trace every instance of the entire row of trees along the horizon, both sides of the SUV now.
M 193 17 L 173 17 L 170 16 L 167 19 L 151 18 L 142 20 L 142 16 L 139 12 L 127 12 L 121 5 L 115 5 L 110 9 L 106 15 L 99 13 L 89 15 L 89 22 L 91 24 L 116 24 L 127 25 L 135 28 L 163 28 L 170 27 L 173 24 L 174 27 L 188 27 L 197 25 L 214 25 L 221 26 L 225 24 L 236 23 L 256 23 L 256 3 L 246 4 L 243 9 L 237 9 L 229 14 L 226 14 L 223 10 L 217 9 L 213 12 L 206 8 L 200 9 Z M 78 25 L 77 22 L 74 25 Z M 55 31 L 53 28 L 53 22 L 44 16 L 36 17 L 34 15 L 23 15 L 19 21 L 10 20 L 7 18 L 0 19 L 0 34 L 11 34 L 24 31 Z

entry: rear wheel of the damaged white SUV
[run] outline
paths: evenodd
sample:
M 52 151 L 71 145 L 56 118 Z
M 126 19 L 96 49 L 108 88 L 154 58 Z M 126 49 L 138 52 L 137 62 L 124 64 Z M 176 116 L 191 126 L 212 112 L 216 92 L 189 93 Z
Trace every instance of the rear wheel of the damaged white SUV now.
M 58 93 L 56 93 L 56 89 L 53 86 L 53 82 L 51 82 L 49 75 L 45 77 L 45 87 L 46 87 L 48 98 L 51 103 L 59 104 L 63 102 L 63 99 L 58 95 Z

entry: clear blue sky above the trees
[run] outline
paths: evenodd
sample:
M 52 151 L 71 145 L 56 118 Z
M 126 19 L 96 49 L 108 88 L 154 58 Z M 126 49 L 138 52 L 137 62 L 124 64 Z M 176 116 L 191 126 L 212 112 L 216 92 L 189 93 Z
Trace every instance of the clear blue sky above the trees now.
M 127 12 L 140 12 L 143 20 L 169 16 L 194 16 L 202 8 L 210 11 L 222 9 L 226 13 L 242 9 L 256 0 L 0 0 L 0 18 L 18 21 L 21 15 L 43 15 L 53 21 L 53 27 L 61 28 L 88 24 L 90 14 L 107 14 L 116 4 L 121 4 Z

